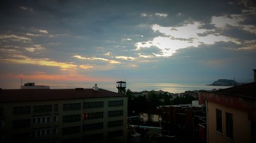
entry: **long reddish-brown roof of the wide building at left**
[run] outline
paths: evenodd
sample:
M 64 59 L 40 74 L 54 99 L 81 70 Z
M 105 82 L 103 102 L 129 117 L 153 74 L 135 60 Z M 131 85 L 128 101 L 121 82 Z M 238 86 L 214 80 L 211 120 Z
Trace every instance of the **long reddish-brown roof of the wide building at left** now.
M 81 98 L 126 97 L 123 94 L 99 89 L 26 89 L 0 90 L 0 102 L 66 100 Z

